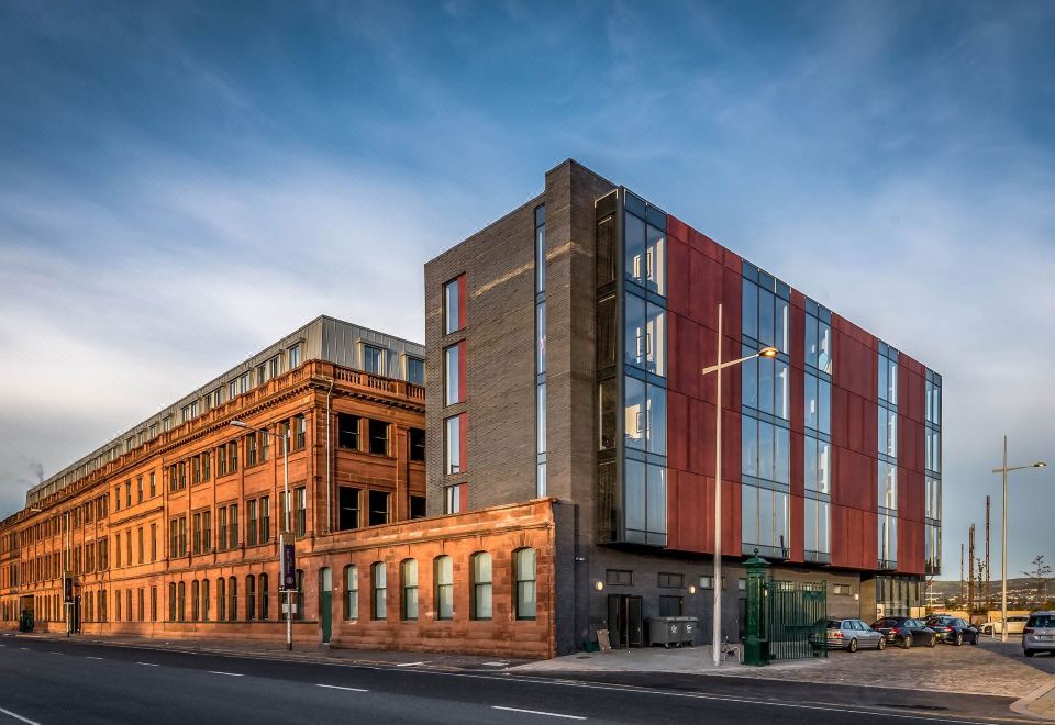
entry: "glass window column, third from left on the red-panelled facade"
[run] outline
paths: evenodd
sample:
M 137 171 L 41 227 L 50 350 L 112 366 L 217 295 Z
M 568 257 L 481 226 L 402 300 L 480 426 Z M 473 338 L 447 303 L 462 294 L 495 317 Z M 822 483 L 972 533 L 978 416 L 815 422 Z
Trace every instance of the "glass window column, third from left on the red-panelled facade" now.
M 806 560 L 832 560 L 832 313 L 806 300 Z

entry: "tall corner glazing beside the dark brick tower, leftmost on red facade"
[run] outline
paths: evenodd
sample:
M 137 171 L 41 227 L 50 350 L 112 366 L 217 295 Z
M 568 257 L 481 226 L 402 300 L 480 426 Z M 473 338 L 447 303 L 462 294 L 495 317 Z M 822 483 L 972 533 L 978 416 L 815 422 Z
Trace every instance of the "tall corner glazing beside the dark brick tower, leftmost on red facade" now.
M 597 202 L 601 542 L 667 543 L 666 224 L 624 189 Z

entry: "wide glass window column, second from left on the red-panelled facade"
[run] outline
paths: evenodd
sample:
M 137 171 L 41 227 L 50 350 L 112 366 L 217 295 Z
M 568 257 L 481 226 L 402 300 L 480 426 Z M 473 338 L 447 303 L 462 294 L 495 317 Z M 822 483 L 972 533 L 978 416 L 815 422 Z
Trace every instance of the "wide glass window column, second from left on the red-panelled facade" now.
M 790 546 L 791 288 L 743 264 L 742 352 L 776 347 L 775 358 L 741 366 L 741 543 L 743 554 L 786 559 Z

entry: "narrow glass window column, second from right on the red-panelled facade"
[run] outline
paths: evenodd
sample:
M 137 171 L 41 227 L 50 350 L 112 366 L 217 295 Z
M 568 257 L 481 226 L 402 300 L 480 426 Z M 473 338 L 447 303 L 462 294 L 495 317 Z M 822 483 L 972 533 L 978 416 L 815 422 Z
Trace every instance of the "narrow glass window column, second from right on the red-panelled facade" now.
M 898 350 L 884 342 L 878 353 L 878 565 L 898 567 Z

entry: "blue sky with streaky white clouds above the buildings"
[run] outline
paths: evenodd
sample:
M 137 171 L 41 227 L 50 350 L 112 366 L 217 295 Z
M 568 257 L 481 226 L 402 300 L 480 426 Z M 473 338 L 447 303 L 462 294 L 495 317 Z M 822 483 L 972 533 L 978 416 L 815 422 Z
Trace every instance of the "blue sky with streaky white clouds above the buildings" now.
M 0 3 L 0 514 L 575 158 L 944 384 L 944 577 L 1055 561 L 1055 4 Z

